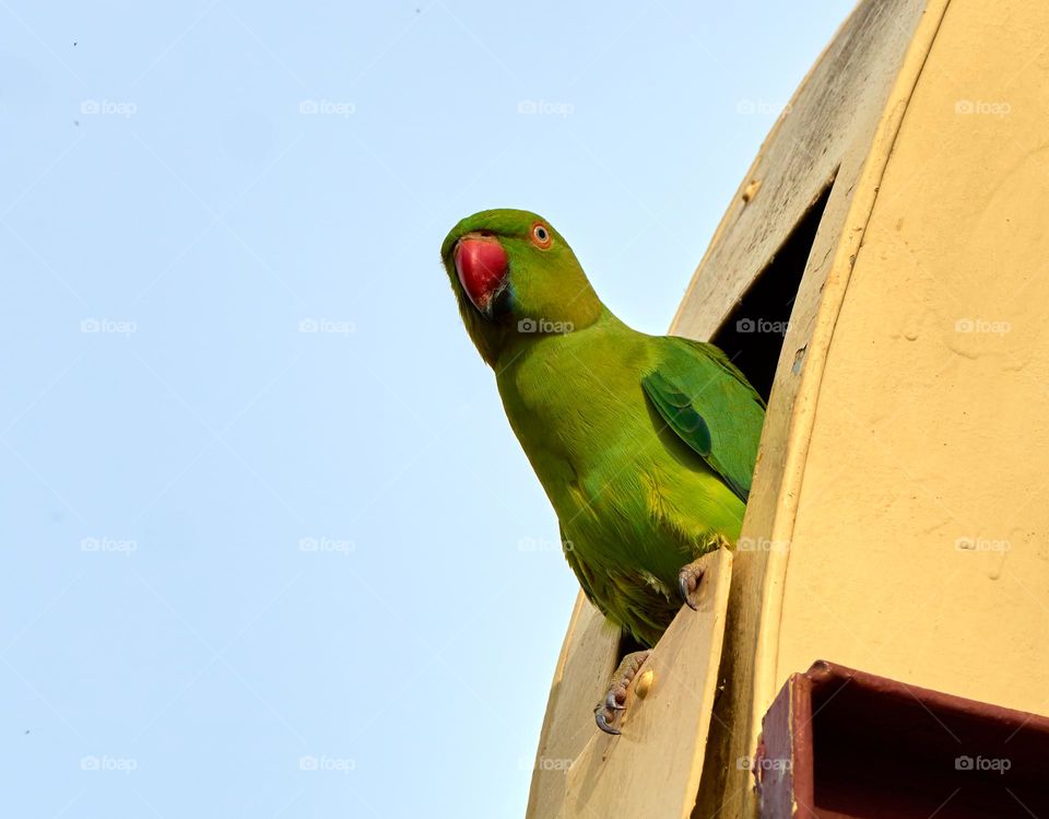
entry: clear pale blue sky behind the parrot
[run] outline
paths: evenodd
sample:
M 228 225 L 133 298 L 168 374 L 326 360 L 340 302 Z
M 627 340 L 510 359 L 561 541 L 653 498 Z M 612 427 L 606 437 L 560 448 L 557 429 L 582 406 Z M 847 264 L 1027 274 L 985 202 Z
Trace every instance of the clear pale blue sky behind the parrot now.
M 849 9 L 0 2 L 0 812 L 521 816 L 576 583 L 440 241 L 664 330 Z

